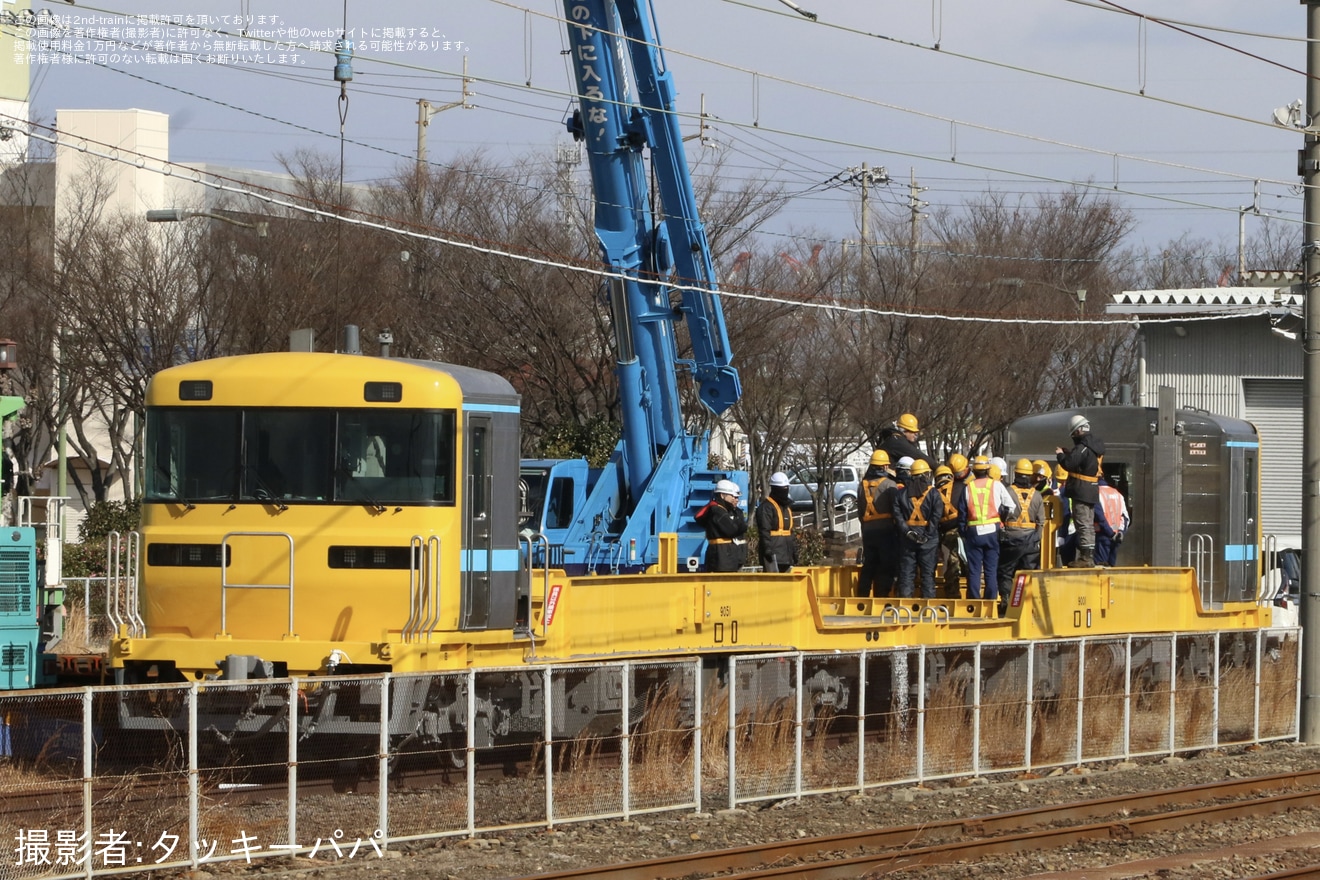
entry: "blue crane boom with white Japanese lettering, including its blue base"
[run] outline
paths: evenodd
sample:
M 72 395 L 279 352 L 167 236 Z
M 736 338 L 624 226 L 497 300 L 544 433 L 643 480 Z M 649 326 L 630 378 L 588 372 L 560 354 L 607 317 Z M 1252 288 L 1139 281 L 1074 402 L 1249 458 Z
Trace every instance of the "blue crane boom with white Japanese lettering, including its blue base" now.
M 715 480 L 747 484 L 744 474 L 708 468 L 708 437 L 684 422 L 680 371 L 690 371 L 714 414 L 733 406 L 742 387 L 651 4 L 564 0 L 564 12 L 579 102 L 569 129 L 586 145 L 597 244 L 610 273 L 623 439 L 599 472 L 528 462 L 524 480 L 539 486 L 543 515 L 552 499 L 573 511 L 564 528 L 546 516 L 533 528 L 562 550 L 566 567 L 630 570 L 656 561 L 665 532 L 678 533 L 681 555 L 698 554 L 704 534 L 693 515 Z M 690 359 L 678 358 L 680 319 Z M 557 478 L 576 480 L 572 503 L 553 487 Z

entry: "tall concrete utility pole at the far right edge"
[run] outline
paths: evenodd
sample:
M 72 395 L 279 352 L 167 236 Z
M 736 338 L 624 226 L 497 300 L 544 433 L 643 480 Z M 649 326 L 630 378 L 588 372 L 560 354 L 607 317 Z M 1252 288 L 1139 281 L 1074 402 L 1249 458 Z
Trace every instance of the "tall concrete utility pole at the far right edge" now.
M 1320 0 L 1307 7 L 1307 116 L 1302 174 L 1302 289 L 1305 334 L 1302 346 L 1302 718 L 1303 743 L 1320 743 Z

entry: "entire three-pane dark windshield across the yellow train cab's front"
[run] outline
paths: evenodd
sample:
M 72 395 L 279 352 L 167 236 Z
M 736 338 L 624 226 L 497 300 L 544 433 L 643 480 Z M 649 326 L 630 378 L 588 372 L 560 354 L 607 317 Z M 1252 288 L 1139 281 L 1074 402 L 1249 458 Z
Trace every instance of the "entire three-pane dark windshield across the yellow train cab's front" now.
M 147 500 L 453 504 L 453 410 L 152 409 Z

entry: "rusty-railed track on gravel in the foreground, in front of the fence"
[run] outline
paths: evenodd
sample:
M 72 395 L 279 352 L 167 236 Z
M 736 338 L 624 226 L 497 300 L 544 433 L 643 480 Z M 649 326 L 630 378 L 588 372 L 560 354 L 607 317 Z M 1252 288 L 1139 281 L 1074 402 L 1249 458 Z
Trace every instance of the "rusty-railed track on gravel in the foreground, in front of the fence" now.
M 1106 797 L 974 819 L 949 819 L 540 873 L 536 879 L 664 880 L 718 875 L 722 879 L 755 876 L 842 880 L 871 875 L 891 876 L 985 856 L 1055 850 L 1094 840 L 1125 840 L 1197 823 L 1226 823 L 1246 817 L 1315 807 L 1320 807 L 1320 770 Z M 1320 873 L 1316 868 L 1305 871 L 1308 872 L 1284 872 L 1278 876 Z M 1090 869 L 1086 876 L 1094 877 L 1097 872 Z

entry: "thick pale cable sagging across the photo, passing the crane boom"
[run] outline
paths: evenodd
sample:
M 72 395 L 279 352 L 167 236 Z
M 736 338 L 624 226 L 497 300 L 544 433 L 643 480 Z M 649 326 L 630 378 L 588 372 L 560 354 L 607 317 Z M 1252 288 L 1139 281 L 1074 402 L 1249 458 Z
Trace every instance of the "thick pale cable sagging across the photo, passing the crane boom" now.
M 9 124 L 25 123 L 25 120 L 12 116 L 9 113 L 0 112 L 0 120 L 8 120 Z M 490 241 L 483 241 L 478 239 L 465 237 L 457 234 L 441 235 L 426 228 L 409 227 L 407 224 L 392 222 L 388 218 L 380 215 L 368 214 L 366 211 L 358 211 L 354 208 L 338 206 L 338 204 L 323 204 L 312 202 L 309 199 L 297 199 L 288 193 L 281 193 L 279 190 L 259 187 L 253 185 L 242 183 L 234 178 L 227 178 L 219 174 L 202 172 L 199 169 L 189 168 L 178 162 L 170 162 L 166 160 L 160 160 L 149 157 L 144 153 L 131 150 L 127 148 L 115 146 L 111 144 L 104 144 L 87 137 L 71 137 L 69 135 L 61 135 L 49 127 L 30 127 L 41 128 L 42 131 L 29 131 L 28 136 L 42 142 L 50 144 L 54 148 L 63 146 L 66 149 L 74 149 L 79 153 L 95 156 L 112 162 L 120 162 L 132 165 L 139 170 L 149 170 L 158 174 L 166 174 L 172 177 L 181 177 L 181 179 L 187 179 L 186 175 L 191 175 L 191 181 L 199 186 L 205 186 L 216 191 L 227 193 L 231 195 L 243 195 L 247 198 L 256 199 L 257 202 L 271 204 L 275 207 L 281 207 L 289 211 L 296 211 L 300 214 L 306 214 L 309 216 L 317 216 L 326 220 L 335 220 L 341 224 L 351 224 L 367 230 L 376 230 L 380 232 L 389 232 L 391 235 L 412 237 L 421 241 L 430 241 L 434 244 L 442 244 L 451 248 L 458 248 L 474 253 L 482 253 L 487 256 L 496 256 L 508 260 L 516 260 L 520 263 L 528 263 L 531 265 L 539 265 L 543 268 L 560 269 L 565 272 L 573 272 L 579 274 L 594 276 L 601 280 L 623 278 L 627 280 L 631 276 L 624 273 L 614 272 L 609 268 L 602 267 L 598 263 L 587 264 L 586 261 L 565 257 L 545 255 L 537 252 L 517 252 L 508 247 L 507 244 L 494 244 Z M 668 288 L 673 290 L 693 290 L 693 292 L 708 292 L 708 288 L 702 285 L 684 284 L 681 280 L 661 278 Z M 1254 317 L 1254 315 L 1269 315 L 1271 309 L 1257 307 L 1257 306 L 1221 306 L 1218 311 L 1212 314 L 1199 314 L 1199 315 L 1179 315 L 1171 318 L 1150 318 L 1142 317 L 1139 321 L 1137 317 L 1122 317 L 1122 318 L 1078 318 L 1078 317 L 1043 317 L 1043 315 L 987 315 L 987 314 L 973 314 L 973 313 L 946 313 L 923 309 L 887 309 L 878 306 L 863 306 L 851 305 L 849 302 L 842 302 L 838 299 L 825 301 L 814 298 L 804 298 L 803 296 L 793 296 L 788 292 L 779 290 L 760 290 L 755 288 L 739 288 L 735 285 L 719 288 L 717 290 L 719 296 L 729 297 L 733 299 L 746 299 L 752 302 L 762 302 L 768 305 L 789 306 L 795 309 L 817 310 L 832 314 L 841 315 L 874 315 L 883 318 L 906 318 L 913 321 L 944 321 L 953 323 L 983 323 L 983 325 L 1015 325 L 1015 326 L 1092 326 L 1092 327 L 1118 327 L 1118 326 L 1131 326 L 1137 323 L 1195 323 L 1195 322 L 1208 322 L 1208 321 L 1225 321 L 1233 318 Z

